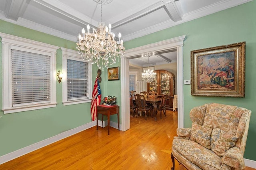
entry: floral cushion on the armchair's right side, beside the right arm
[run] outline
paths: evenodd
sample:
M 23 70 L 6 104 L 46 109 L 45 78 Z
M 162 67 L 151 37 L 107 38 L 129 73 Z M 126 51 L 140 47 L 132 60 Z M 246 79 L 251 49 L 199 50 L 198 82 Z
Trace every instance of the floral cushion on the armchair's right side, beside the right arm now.
M 211 150 L 218 156 L 223 156 L 227 150 L 235 146 L 238 138 L 235 135 L 228 134 L 220 128 L 214 128 L 211 134 Z

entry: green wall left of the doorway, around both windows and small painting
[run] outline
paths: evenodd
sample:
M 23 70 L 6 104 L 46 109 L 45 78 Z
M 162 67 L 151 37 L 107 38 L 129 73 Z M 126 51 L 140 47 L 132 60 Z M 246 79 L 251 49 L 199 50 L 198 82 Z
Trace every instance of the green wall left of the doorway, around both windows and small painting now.
M 0 32 L 56 45 L 57 47 L 76 50 L 75 42 L 11 24 L 3 20 L 0 20 Z M 2 108 L 2 43 L 0 43 L 0 63 L 0 106 Z M 117 66 L 120 66 L 120 62 L 116 63 L 113 67 Z M 62 70 L 62 50 L 60 48 L 57 49 L 56 54 L 56 70 Z M 92 88 L 97 70 L 96 65 L 92 65 Z M 118 105 L 121 105 L 120 81 L 108 81 L 107 69 L 102 71 L 101 77 L 102 82 L 100 83 L 100 87 L 102 97 L 115 95 L 119 99 L 117 100 Z M 0 118 L 0 156 L 91 122 L 91 103 L 63 106 L 62 83 L 58 83 L 57 80 L 56 98 L 58 104 L 54 108 L 5 115 L 0 110 L 0 117 L 2 117 Z M 116 117 L 111 117 L 110 120 L 117 122 Z

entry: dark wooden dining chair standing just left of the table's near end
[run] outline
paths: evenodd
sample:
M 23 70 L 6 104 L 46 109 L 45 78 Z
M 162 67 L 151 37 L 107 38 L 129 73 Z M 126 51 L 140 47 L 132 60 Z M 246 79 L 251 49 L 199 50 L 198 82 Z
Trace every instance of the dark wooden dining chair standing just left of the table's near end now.
M 135 101 L 137 105 L 137 117 L 139 116 L 139 111 L 145 114 L 145 120 L 147 120 L 147 113 L 150 111 L 150 115 L 152 115 L 152 107 L 150 105 L 146 105 L 146 99 L 144 95 L 136 94 Z

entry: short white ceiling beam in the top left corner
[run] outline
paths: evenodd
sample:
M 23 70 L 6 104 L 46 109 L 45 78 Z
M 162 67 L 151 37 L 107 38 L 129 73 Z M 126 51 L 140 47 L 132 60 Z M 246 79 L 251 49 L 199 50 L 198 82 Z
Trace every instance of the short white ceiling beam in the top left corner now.
M 26 1 L 27 0 L 7 0 L 4 8 L 6 18 L 17 21 L 19 17 L 22 17 L 27 7 Z

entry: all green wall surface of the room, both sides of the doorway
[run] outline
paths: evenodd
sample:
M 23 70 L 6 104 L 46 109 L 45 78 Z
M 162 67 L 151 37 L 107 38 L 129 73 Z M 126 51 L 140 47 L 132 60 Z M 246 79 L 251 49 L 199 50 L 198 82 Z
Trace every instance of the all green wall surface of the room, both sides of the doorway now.
M 156 32 L 142 38 L 137 38 L 124 43 L 126 49 L 139 47 L 149 43 L 159 42 L 170 38 L 186 35 L 184 41 L 184 79 L 190 79 L 190 51 L 236 42 L 246 42 L 246 89 L 245 98 L 231 97 L 200 97 L 190 95 L 190 85 L 184 85 L 184 123 L 185 127 L 191 126 L 189 111 L 192 107 L 204 103 L 216 102 L 237 105 L 252 110 L 248 140 L 244 157 L 256 160 L 254 156 L 254 139 L 256 135 L 256 2 L 236 6 L 209 16 Z M 35 30 L 30 30 L 15 24 L 0 20 L 0 32 L 11 34 L 39 42 L 44 42 L 58 47 L 76 49 L 75 43 L 58 37 L 50 36 Z M 62 68 L 62 51 L 57 50 L 56 70 Z M 2 48 L 0 48 L 0 62 L 2 63 Z M 0 65 L 0 105 L 2 105 L 2 64 Z M 110 67 L 120 67 L 120 62 Z M 94 84 L 98 68 L 92 68 L 92 85 Z M 121 81 L 108 81 L 107 69 L 102 71 L 102 97 L 114 95 L 117 104 L 121 105 Z M 4 115 L 0 111 L 0 156 L 34 144 L 56 134 L 79 127 L 91 122 L 90 103 L 78 105 L 62 105 L 62 84 L 56 83 L 57 102 L 55 108 L 11 113 Z M 120 108 L 121 111 L 121 108 Z M 112 121 L 117 122 L 114 115 Z M 121 120 L 121 118 L 120 118 Z

